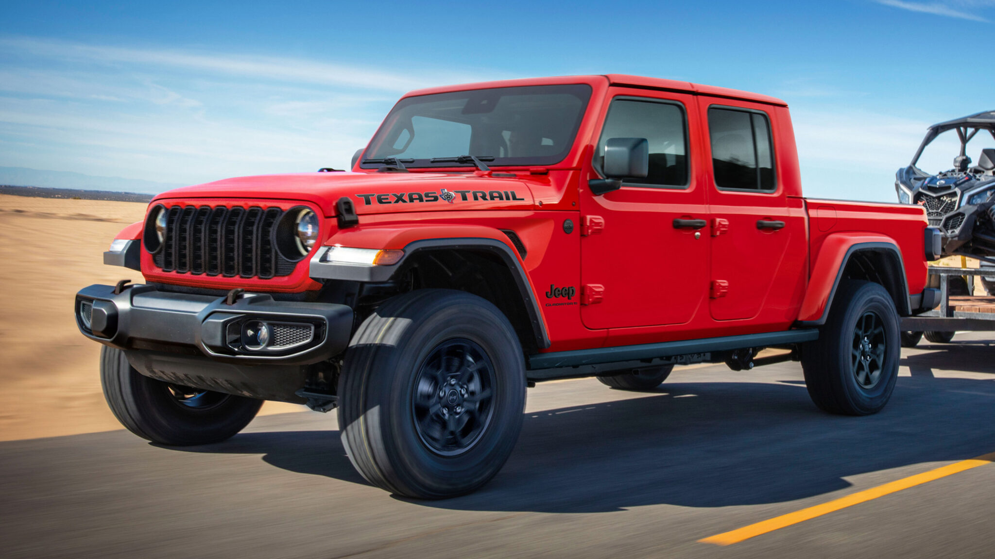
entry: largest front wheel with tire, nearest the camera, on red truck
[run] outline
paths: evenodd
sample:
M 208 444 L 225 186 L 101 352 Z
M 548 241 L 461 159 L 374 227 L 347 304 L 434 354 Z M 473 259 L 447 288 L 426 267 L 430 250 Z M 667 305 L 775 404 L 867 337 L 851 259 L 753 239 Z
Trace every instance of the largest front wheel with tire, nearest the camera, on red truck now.
M 521 347 L 491 302 L 419 289 L 359 326 L 338 396 L 342 445 L 370 483 L 417 498 L 469 493 L 504 465 L 521 430 Z

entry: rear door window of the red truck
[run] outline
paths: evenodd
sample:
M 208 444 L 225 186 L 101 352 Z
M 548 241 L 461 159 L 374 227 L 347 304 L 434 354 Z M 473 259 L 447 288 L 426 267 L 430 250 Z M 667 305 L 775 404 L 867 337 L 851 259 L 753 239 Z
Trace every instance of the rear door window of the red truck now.
M 708 132 L 716 187 L 767 192 L 775 189 L 774 155 L 766 115 L 709 108 Z

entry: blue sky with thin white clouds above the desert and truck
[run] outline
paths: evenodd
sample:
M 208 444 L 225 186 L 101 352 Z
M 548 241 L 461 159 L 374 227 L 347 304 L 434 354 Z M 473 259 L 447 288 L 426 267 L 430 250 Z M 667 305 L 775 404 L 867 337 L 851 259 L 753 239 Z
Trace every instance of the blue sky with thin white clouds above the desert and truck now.
M 0 166 L 183 184 L 341 168 L 405 91 L 620 73 L 779 96 L 808 195 L 892 201 L 926 125 L 995 108 L 993 24 L 995 0 L 8 0 Z

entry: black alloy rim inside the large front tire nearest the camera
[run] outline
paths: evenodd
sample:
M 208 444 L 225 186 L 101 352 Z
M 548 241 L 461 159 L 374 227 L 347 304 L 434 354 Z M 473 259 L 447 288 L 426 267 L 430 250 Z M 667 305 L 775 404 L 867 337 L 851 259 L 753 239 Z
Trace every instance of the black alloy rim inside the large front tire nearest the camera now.
M 494 363 L 479 344 L 457 338 L 437 345 L 418 371 L 411 395 L 422 442 L 442 456 L 467 452 L 494 415 L 494 385 Z

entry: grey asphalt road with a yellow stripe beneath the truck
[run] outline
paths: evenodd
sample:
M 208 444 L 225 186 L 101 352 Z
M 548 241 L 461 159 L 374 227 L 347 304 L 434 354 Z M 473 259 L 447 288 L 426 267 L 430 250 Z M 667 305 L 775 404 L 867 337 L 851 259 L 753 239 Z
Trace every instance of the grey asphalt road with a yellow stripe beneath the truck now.
M 985 337 L 903 351 L 891 403 L 865 418 L 818 411 L 797 363 L 679 368 L 649 394 L 540 384 L 507 465 L 445 501 L 367 485 L 334 414 L 185 450 L 124 431 L 0 443 L 0 557 L 995 557 L 995 464 L 697 541 L 995 452 Z

